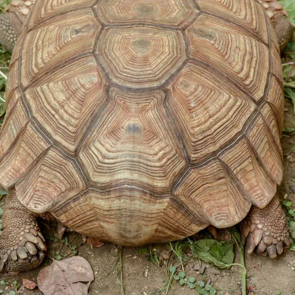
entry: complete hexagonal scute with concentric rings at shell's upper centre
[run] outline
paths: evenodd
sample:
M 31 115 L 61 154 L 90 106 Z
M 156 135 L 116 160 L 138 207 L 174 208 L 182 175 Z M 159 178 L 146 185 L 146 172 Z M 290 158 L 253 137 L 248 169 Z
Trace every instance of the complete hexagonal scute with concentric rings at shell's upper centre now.
M 187 59 L 180 31 L 141 26 L 106 28 L 96 55 L 112 82 L 136 89 L 161 86 Z

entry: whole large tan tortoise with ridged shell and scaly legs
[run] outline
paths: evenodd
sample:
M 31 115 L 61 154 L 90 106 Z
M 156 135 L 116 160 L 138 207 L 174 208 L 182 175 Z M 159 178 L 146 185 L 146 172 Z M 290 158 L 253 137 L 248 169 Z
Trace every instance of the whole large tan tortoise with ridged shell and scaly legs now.
M 275 258 L 290 244 L 275 196 L 280 50 L 261 1 L 37 0 L 6 102 L 1 270 L 40 264 L 36 218 L 48 215 L 136 246 L 229 227 L 250 210 L 248 253 Z

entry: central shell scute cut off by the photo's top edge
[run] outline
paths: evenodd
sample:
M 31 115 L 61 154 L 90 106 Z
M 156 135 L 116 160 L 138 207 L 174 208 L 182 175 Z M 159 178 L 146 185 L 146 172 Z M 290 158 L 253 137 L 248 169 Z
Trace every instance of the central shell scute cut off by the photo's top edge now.
M 200 12 L 193 0 L 100 0 L 94 9 L 106 25 L 148 23 L 183 28 Z

